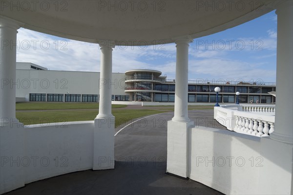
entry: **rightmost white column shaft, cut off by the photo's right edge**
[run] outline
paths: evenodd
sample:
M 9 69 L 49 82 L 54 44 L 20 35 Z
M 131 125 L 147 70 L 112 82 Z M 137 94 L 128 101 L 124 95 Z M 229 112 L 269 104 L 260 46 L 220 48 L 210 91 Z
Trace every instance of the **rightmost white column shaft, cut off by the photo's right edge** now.
M 286 1 L 276 9 L 277 79 L 274 140 L 293 143 L 293 2 Z

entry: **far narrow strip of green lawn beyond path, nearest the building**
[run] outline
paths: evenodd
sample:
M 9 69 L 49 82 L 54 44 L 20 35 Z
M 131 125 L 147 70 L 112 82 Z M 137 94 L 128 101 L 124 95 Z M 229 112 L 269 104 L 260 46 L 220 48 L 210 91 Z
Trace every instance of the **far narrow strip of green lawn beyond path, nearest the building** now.
M 126 107 L 126 105 L 112 105 L 112 108 Z M 99 103 L 51 103 L 25 102 L 16 103 L 16 110 L 59 110 L 59 109 L 98 109 Z

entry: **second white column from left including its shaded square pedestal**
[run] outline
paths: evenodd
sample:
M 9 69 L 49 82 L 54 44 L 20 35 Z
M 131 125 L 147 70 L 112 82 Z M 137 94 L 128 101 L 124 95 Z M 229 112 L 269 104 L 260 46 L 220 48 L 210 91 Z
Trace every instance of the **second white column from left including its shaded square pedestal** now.
M 111 113 L 112 48 L 111 41 L 101 41 L 99 114 L 95 118 L 93 170 L 114 168 L 115 117 Z

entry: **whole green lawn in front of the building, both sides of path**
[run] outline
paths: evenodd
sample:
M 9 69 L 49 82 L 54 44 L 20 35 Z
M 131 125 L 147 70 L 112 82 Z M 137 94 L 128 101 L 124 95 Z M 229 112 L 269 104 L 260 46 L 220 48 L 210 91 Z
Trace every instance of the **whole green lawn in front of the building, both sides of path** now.
M 146 109 L 117 109 L 123 107 L 126 107 L 126 105 L 112 105 L 115 127 L 147 115 L 174 111 L 174 106 L 147 106 Z M 98 103 L 17 103 L 16 118 L 25 125 L 92 121 L 98 114 L 98 108 Z M 213 106 L 188 106 L 188 109 L 213 109 Z

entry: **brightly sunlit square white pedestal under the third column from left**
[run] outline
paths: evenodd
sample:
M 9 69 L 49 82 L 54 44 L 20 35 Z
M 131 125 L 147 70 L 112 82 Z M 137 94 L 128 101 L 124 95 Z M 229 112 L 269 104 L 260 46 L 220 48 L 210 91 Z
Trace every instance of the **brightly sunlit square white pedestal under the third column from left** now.
M 168 121 L 167 124 L 167 173 L 189 177 L 188 132 L 194 126 L 188 123 Z

